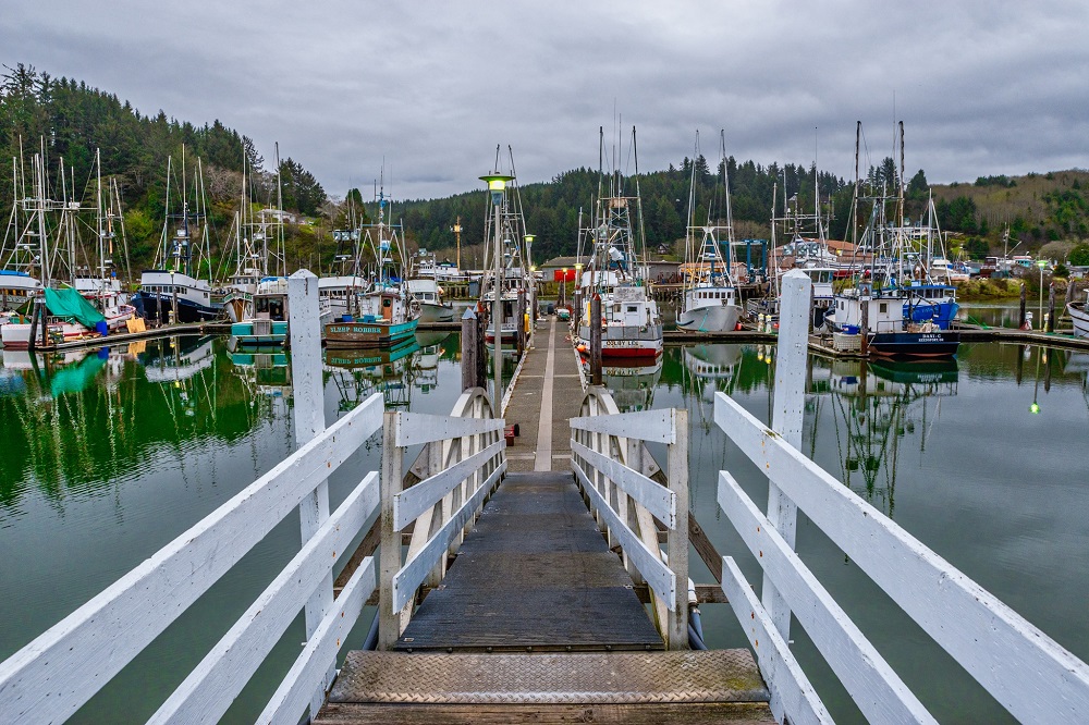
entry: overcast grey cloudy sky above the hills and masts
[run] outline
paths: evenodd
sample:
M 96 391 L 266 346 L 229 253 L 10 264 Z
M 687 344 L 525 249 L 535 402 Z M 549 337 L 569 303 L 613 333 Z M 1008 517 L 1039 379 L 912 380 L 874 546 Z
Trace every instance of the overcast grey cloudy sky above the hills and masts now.
M 693 149 L 854 175 L 972 181 L 1089 167 L 1089 2 L 209 2 L 0 0 L 0 62 L 35 65 L 273 143 L 343 196 L 386 161 L 395 198 L 598 163 L 638 127 L 640 170 Z M 626 133 L 625 133 L 626 135 Z M 864 157 L 864 163 L 866 162 Z M 622 160 L 622 169 L 631 165 Z M 388 184 L 388 191 L 390 185 Z

